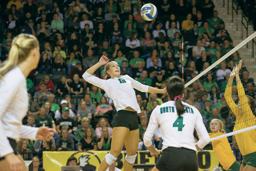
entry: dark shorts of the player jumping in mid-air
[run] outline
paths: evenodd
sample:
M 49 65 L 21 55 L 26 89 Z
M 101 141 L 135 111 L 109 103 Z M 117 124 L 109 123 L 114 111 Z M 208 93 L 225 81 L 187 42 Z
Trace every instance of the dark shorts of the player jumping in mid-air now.
M 113 118 L 112 128 L 126 127 L 130 130 L 139 129 L 137 112 L 118 110 Z

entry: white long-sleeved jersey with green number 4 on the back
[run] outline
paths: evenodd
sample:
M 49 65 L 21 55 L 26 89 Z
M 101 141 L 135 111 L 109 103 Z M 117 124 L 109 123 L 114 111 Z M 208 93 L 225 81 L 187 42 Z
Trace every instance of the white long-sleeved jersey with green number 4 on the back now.
M 187 107 L 185 113 L 180 117 L 177 115 L 175 101 L 167 101 L 152 111 L 143 139 L 145 146 L 151 146 L 152 136 L 159 124 L 163 135 L 162 150 L 167 147 L 183 147 L 197 151 L 194 145 L 194 128 L 200 137 L 197 143 L 198 147 L 204 148 L 209 143 L 210 137 L 200 112 L 195 107 L 183 101 L 182 103 Z

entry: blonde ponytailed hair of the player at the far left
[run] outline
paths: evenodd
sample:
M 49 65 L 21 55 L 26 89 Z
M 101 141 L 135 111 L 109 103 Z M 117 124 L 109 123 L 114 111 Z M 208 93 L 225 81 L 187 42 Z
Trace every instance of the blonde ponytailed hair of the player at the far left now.
M 0 68 L 0 79 L 15 66 L 25 61 L 34 48 L 39 48 L 39 42 L 35 36 L 29 34 L 17 35 L 12 41 L 8 60 Z

